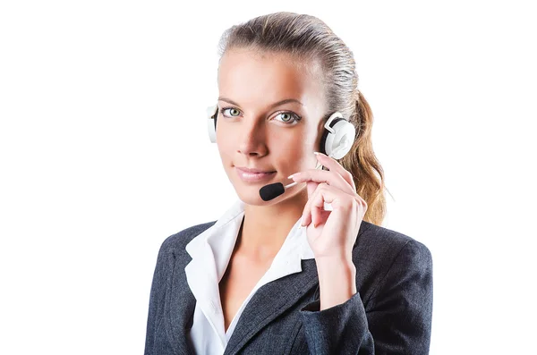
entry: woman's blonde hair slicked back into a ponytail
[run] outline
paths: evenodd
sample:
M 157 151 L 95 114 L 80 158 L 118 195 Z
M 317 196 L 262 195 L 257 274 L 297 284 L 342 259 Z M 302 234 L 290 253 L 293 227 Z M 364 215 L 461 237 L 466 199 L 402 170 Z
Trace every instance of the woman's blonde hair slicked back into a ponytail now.
M 232 48 L 292 55 L 302 63 L 320 63 L 327 97 L 325 120 L 341 112 L 354 124 L 358 139 L 338 162 L 352 173 L 356 193 L 368 205 L 364 221 L 382 224 L 386 214 L 384 171 L 371 141 L 373 114 L 358 89 L 354 55 L 328 25 L 320 19 L 298 13 L 269 13 L 234 25 L 219 42 L 220 58 Z

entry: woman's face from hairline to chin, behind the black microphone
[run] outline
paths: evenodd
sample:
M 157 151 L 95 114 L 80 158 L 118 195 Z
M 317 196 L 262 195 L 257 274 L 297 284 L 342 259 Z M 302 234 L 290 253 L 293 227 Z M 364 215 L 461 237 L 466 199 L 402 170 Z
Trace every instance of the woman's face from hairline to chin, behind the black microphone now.
M 325 98 L 319 70 L 304 66 L 288 55 L 247 49 L 230 50 L 220 60 L 217 146 L 227 176 L 246 204 L 292 198 L 300 186 L 270 201 L 260 199 L 259 190 L 274 182 L 287 185 L 293 182 L 289 175 L 316 165 L 313 152 L 320 148 Z M 239 168 L 272 173 L 248 180 Z

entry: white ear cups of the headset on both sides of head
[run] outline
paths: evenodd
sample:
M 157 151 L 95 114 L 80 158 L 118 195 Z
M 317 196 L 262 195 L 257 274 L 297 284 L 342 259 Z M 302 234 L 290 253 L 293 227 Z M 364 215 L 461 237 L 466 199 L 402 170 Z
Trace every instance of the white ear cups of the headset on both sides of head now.
M 218 106 L 209 106 L 207 108 L 207 128 L 209 139 L 212 143 L 217 142 L 217 116 Z M 324 124 L 324 131 L 320 139 L 320 151 L 334 159 L 341 159 L 353 147 L 354 135 L 356 130 L 354 124 L 343 118 L 343 114 L 336 112 L 331 114 L 328 121 Z

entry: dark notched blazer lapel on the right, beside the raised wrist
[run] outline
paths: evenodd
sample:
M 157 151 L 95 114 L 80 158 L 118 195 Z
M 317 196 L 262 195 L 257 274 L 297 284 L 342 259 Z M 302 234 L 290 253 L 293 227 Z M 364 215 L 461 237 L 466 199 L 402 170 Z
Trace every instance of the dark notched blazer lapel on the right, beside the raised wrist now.
M 315 259 L 302 260 L 303 271 L 277 282 L 264 284 L 255 292 L 243 310 L 224 355 L 234 354 L 263 327 L 292 307 L 311 288 L 319 283 Z M 269 307 L 267 307 L 269 305 Z

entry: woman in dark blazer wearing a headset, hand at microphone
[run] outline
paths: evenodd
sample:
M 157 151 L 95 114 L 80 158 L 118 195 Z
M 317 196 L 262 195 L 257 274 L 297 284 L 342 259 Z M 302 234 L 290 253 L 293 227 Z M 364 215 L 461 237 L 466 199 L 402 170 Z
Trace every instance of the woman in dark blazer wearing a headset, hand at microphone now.
M 238 200 L 162 244 L 145 353 L 427 354 L 430 251 L 379 226 L 384 176 L 349 48 L 295 13 L 220 44 L 209 134 Z

